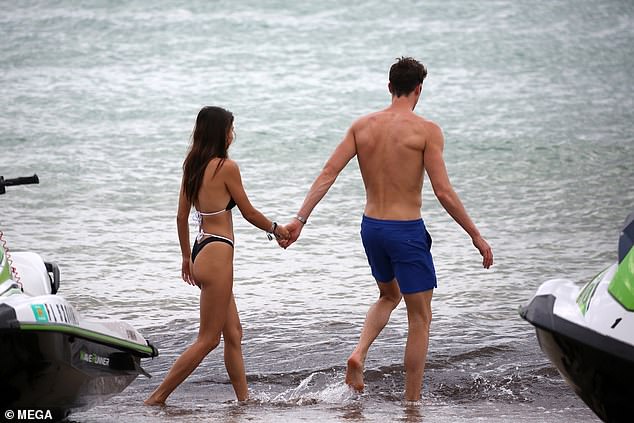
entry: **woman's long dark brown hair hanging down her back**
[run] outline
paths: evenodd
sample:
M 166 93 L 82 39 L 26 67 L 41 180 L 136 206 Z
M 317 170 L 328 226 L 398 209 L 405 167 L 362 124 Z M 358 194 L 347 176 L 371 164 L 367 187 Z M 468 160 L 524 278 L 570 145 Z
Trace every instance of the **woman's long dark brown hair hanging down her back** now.
M 221 159 L 217 172 L 227 158 L 227 134 L 232 125 L 233 114 L 222 107 L 207 106 L 198 112 L 192 143 L 183 163 L 183 188 L 191 204 L 198 202 L 198 191 L 209 162 L 216 157 Z

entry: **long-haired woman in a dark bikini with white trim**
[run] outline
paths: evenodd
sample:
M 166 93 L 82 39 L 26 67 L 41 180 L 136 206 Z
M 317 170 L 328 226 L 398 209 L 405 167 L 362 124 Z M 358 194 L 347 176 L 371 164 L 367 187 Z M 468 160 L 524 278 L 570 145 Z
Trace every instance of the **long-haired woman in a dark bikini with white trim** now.
M 192 144 L 183 163 L 177 227 L 183 255 L 182 277 L 200 288 L 198 338 L 176 360 L 165 380 L 145 400 L 147 405 L 165 400 L 200 362 L 224 339 L 225 367 L 238 401 L 248 398 L 242 359 L 242 327 L 233 297 L 233 221 L 238 206 L 252 225 L 267 231 L 269 239 L 288 239 L 283 226 L 256 210 L 244 192 L 240 170 L 227 150 L 234 139 L 233 115 L 220 107 L 204 107 L 196 118 Z M 189 250 L 188 218 L 192 205 L 199 233 Z

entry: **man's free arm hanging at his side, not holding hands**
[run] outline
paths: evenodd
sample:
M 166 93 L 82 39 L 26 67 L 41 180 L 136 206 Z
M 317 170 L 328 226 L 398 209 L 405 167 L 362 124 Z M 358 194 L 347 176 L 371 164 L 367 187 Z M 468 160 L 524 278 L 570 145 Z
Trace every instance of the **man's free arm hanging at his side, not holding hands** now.
M 434 194 L 447 213 L 469 234 L 473 245 L 483 257 L 483 266 L 488 269 L 493 264 L 493 252 L 489 244 L 480 235 L 458 194 L 451 186 L 445 160 L 443 159 L 444 146 L 445 140 L 442 131 L 437 125 L 430 123 L 423 164 L 434 189 Z

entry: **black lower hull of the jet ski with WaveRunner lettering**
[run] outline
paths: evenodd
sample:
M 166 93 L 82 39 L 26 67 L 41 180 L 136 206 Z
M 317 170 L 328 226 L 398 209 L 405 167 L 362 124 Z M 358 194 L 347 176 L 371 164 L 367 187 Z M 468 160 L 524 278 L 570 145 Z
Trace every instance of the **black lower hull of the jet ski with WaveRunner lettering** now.
M 56 418 L 98 405 L 145 371 L 141 356 L 54 330 L 0 331 L 0 408 Z

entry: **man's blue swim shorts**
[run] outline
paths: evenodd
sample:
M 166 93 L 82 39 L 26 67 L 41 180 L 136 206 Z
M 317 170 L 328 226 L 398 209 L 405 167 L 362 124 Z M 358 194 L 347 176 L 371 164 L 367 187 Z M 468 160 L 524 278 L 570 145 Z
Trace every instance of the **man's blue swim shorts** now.
M 364 215 L 361 240 L 377 282 L 396 278 L 402 294 L 436 288 L 432 241 L 423 219 L 381 220 Z

